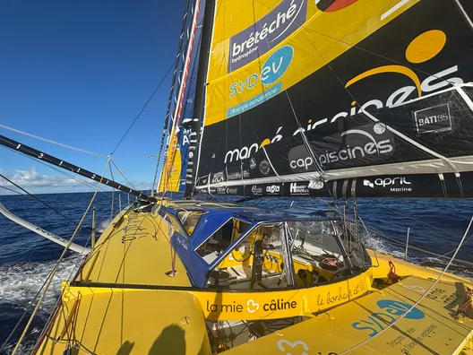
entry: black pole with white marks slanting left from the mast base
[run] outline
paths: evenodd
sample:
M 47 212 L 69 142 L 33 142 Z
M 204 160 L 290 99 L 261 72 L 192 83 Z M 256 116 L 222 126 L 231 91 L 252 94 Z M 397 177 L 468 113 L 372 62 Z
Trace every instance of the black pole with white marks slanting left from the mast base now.
M 122 185 L 122 184 L 118 184 L 115 181 L 108 179 L 107 177 L 101 177 L 98 174 L 94 174 L 93 172 L 91 172 L 89 170 L 82 169 L 82 168 L 80 168 L 76 165 L 71 164 L 70 162 L 65 161 L 65 160 L 61 160 L 61 159 L 58 159 L 56 157 L 53 157 L 52 155 L 49 155 L 45 152 L 39 152 L 38 150 L 36 150 L 34 148 L 31 148 L 30 146 L 28 146 L 26 144 L 23 144 L 23 143 L 20 143 L 20 142 L 17 142 L 17 141 L 13 141 L 13 139 L 7 138 L 7 137 L 5 137 L 4 135 L 1 135 L 1 134 L 0 134 L 0 144 L 4 145 L 7 148 L 12 149 L 13 151 L 22 152 L 23 154 L 29 155 L 30 157 L 46 161 L 47 163 L 49 163 L 51 165 L 55 165 L 56 167 L 62 168 L 62 169 L 67 170 L 67 171 L 71 171 L 75 174 L 79 174 L 82 177 L 87 177 L 87 178 L 90 178 L 91 180 L 94 180 L 94 181 L 97 181 L 97 182 L 101 181 L 102 184 L 113 187 L 113 188 L 116 188 L 117 190 L 123 191 L 126 194 L 132 194 L 132 195 L 135 195 L 137 197 L 141 197 L 142 199 L 146 199 L 146 200 L 150 200 L 150 201 L 152 200 L 152 198 L 150 196 L 142 194 L 141 191 L 135 190 L 131 187 L 128 187 L 128 186 L 125 186 L 125 185 Z

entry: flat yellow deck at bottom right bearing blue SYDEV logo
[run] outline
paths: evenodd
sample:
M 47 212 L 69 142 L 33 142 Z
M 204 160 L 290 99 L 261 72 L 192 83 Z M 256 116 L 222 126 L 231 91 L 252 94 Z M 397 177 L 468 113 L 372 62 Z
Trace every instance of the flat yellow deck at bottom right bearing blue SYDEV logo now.
M 471 354 L 473 319 L 454 319 L 465 301 L 462 282 L 408 277 L 383 292 L 348 302 L 305 322 L 263 336 L 231 354 Z

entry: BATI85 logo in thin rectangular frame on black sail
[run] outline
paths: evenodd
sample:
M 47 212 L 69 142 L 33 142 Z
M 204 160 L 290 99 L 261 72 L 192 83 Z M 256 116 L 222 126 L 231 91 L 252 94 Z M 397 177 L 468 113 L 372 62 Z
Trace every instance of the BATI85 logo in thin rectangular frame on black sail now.
M 452 131 L 449 104 L 437 105 L 414 112 L 418 134 Z

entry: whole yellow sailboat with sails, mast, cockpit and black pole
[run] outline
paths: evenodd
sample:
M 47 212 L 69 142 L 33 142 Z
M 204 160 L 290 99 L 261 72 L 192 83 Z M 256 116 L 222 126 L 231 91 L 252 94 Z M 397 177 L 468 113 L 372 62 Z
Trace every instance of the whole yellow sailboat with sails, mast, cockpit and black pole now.
M 473 196 L 473 3 L 189 8 L 158 194 L 0 137 L 140 199 L 63 282 L 32 352 L 471 354 L 473 282 L 448 273 L 469 229 L 444 270 L 420 266 L 365 247 L 357 198 Z

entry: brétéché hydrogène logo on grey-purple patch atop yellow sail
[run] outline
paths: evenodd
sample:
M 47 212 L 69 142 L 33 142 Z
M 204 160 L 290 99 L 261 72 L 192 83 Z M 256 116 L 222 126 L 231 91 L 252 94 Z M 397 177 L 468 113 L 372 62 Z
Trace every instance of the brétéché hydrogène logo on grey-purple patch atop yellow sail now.
M 305 22 L 307 0 L 283 1 L 230 39 L 228 73 L 276 47 Z

